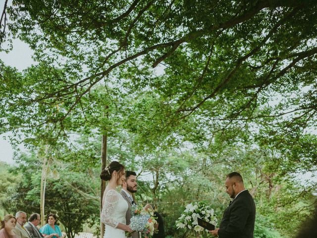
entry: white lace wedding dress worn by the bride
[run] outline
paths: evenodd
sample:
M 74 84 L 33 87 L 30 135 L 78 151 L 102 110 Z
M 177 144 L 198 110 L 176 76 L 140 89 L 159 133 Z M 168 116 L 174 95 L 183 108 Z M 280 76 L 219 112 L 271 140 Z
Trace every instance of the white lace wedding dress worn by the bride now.
M 101 212 L 101 221 L 105 224 L 104 238 L 126 238 L 125 232 L 116 229 L 118 223 L 126 224 L 127 201 L 114 189 L 106 192 L 105 203 Z

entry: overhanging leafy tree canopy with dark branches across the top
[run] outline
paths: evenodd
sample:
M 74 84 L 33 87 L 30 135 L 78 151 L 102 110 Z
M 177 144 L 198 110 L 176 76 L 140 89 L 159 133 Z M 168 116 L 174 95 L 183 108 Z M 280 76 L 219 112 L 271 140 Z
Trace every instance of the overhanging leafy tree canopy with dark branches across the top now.
M 6 9 L 11 33 L 41 63 L 21 77 L 24 96 L 5 95 L 11 99 L 4 106 L 17 102 L 9 112 L 27 124 L 50 121 L 57 131 L 80 125 L 78 115 L 95 106 L 82 103 L 101 84 L 112 87 L 107 97 L 134 93 L 130 102 L 153 92 L 144 111 L 136 111 L 138 104 L 127 109 L 130 123 L 145 116 L 147 127 L 134 128 L 152 143 L 162 131 L 158 142 L 179 133 L 188 117 L 211 131 L 285 114 L 294 123 L 315 119 L 315 0 L 14 3 Z M 160 76 L 149 67 L 159 64 Z M 287 96 L 302 85 L 310 87 L 305 101 L 287 100 L 275 114 L 263 107 L 274 94 Z

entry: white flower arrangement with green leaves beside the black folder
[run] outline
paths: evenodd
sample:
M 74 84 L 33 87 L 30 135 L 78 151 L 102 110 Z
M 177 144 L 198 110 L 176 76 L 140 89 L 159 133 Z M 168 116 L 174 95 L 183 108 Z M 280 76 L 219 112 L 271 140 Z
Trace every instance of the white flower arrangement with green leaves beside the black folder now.
M 211 206 L 207 205 L 205 202 L 195 202 L 188 204 L 185 211 L 176 220 L 177 229 L 190 229 L 197 233 L 204 232 L 205 229 L 198 225 L 197 217 L 214 226 L 217 225 L 217 218 Z

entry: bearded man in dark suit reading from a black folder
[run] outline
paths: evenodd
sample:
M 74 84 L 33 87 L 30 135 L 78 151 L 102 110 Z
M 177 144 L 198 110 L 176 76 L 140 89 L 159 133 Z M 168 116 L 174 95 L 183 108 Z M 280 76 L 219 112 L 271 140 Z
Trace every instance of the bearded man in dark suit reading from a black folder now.
M 237 172 L 227 175 L 225 187 L 233 201 L 224 211 L 220 227 L 209 232 L 219 238 L 253 238 L 256 205 L 241 175 Z

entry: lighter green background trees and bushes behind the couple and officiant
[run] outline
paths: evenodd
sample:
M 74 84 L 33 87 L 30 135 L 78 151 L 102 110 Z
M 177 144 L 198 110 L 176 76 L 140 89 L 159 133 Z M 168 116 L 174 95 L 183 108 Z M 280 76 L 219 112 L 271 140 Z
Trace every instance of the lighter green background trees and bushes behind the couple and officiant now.
M 100 233 L 99 137 L 90 140 L 86 136 L 78 137 L 74 141 L 77 149 L 59 146 L 50 162 L 45 211 L 58 214 L 68 237 L 83 231 L 83 227 L 85 231 Z M 188 143 L 187 148 L 146 153 L 135 150 L 131 137 L 128 139 L 120 133 L 115 138 L 109 139 L 108 160 L 117 159 L 128 169 L 137 171 L 136 199 L 158 209 L 164 218 L 166 235 L 170 237 L 191 236 L 176 230 L 175 220 L 192 201 L 210 203 L 221 219 L 229 203 L 223 181 L 233 170 L 244 175 L 246 187 L 255 198 L 256 238 L 292 237 L 294 227 L 299 228 L 315 209 L 316 182 L 304 184 L 298 174 L 282 173 L 274 163 L 277 151 L 217 139 L 206 150 Z M 35 152 L 23 153 L 16 156 L 16 163 L 17 167 L 2 167 L 2 214 L 16 210 L 39 212 L 41 158 Z M 4 183 L 6 179 L 10 184 Z

